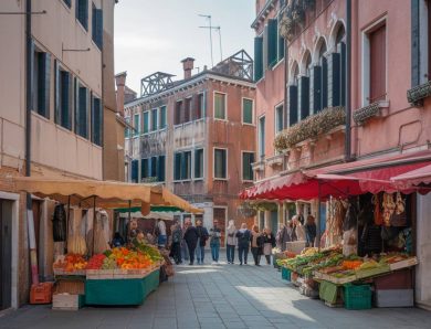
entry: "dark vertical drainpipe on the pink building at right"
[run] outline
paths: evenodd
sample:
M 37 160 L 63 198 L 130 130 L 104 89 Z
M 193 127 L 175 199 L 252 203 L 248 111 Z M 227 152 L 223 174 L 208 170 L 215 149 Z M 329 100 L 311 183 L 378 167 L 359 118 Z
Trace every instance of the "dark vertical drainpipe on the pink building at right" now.
M 345 160 L 351 159 L 351 0 L 346 0 L 346 138 Z

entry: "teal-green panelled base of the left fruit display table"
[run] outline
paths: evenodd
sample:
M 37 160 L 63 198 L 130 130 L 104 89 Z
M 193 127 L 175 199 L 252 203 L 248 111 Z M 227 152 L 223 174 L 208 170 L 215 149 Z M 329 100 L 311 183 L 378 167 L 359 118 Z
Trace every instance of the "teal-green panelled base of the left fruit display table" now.
M 159 286 L 159 269 L 143 278 L 87 279 L 86 305 L 141 305 Z

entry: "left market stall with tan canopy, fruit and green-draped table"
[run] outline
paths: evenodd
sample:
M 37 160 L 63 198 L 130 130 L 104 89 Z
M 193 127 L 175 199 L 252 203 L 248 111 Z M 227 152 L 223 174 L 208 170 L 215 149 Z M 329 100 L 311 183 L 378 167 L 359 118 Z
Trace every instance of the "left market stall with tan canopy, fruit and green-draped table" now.
M 63 255 L 53 264 L 53 308 L 57 309 L 78 309 L 84 304 L 140 305 L 159 285 L 160 252 L 140 235 L 112 248 L 105 210 L 127 208 L 129 217 L 134 206 L 143 215 L 151 206 L 201 213 L 160 185 L 32 177 L 14 178 L 14 184 L 17 190 L 59 202 L 54 221 L 56 216 L 65 220 L 53 232 L 54 241 L 67 251 L 60 252 Z

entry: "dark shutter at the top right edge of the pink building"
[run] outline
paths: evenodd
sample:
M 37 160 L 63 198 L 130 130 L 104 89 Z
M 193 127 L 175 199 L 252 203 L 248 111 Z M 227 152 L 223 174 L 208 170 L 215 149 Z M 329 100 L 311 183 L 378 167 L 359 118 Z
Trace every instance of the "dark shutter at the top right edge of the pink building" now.
M 430 2 L 427 2 L 430 6 Z M 420 84 L 419 0 L 411 0 L 411 87 Z M 430 23 L 430 22 L 429 22 Z M 429 54 L 430 56 L 430 54 Z M 428 77 L 431 79 L 431 77 Z

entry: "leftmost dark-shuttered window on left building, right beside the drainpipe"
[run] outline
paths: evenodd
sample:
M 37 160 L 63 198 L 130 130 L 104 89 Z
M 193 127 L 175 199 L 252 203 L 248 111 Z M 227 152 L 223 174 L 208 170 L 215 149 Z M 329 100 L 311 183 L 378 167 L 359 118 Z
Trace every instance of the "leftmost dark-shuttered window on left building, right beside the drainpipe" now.
M 33 45 L 34 46 L 34 45 Z M 33 110 L 50 118 L 51 54 L 33 52 Z

